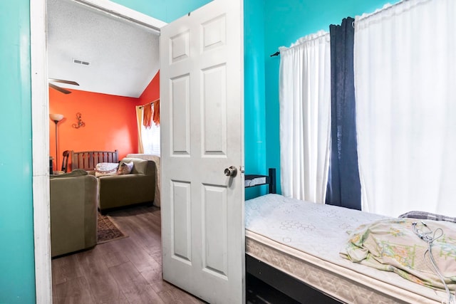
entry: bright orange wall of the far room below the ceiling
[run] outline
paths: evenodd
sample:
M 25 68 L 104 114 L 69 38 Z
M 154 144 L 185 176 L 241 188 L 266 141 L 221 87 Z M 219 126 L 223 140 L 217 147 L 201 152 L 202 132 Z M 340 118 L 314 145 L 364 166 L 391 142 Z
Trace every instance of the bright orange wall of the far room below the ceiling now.
M 49 113 L 63 114 L 58 122 L 58 170 L 65 150 L 118 150 L 119 159 L 138 153 L 138 127 L 135 105 L 150 103 L 160 97 L 160 72 L 150 81 L 140 98 L 71 90 L 63 94 L 49 89 Z M 81 113 L 85 127 L 72 127 Z M 56 125 L 49 122 L 49 153 L 56 156 Z M 54 160 L 55 162 L 55 160 Z M 71 162 L 71 160 L 70 160 Z M 54 169 L 56 169 L 54 164 Z

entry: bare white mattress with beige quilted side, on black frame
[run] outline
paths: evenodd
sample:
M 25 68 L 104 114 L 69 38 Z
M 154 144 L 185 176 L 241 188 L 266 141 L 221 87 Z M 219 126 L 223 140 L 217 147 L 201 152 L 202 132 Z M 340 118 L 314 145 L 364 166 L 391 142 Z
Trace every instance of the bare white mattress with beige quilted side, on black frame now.
M 440 290 L 339 256 L 347 231 L 382 218 L 267 194 L 245 202 L 246 252 L 343 303 L 442 303 Z

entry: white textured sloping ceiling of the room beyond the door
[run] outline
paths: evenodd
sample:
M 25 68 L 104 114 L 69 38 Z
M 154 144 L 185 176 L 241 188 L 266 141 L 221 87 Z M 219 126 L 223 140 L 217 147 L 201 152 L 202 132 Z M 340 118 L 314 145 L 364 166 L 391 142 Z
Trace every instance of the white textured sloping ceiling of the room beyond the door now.
M 48 0 L 48 76 L 62 88 L 140 97 L 160 68 L 159 36 L 71 0 Z M 73 59 L 89 65 L 73 63 Z

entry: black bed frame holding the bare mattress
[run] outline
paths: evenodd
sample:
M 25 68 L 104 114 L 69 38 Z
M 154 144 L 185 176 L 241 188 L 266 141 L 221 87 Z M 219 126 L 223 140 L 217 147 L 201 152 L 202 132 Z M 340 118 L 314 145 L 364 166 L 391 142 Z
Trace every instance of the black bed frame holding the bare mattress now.
M 276 169 L 269 168 L 268 175 L 245 175 L 245 187 L 257 187 L 269 184 L 269 193 L 276 193 Z M 270 285 L 281 293 L 288 295 L 290 298 L 299 303 L 309 304 L 331 304 L 341 303 L 330 296 L 322 293 L 310 285 L 289 276 L 273 266 L 245 253 L 245 268 L 247 273 L 259 278 L 259 280 Z

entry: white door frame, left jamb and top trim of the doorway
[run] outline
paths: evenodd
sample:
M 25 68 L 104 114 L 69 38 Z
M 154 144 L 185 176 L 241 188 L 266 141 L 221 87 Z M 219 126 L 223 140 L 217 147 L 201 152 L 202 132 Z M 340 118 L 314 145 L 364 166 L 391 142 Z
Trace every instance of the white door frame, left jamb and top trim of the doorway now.
M 160 33 L 166 23 L 108 0 L 73 0 Z M 37 304 L 52 303 L 46 0 L 30 1 L 33 239 Z

